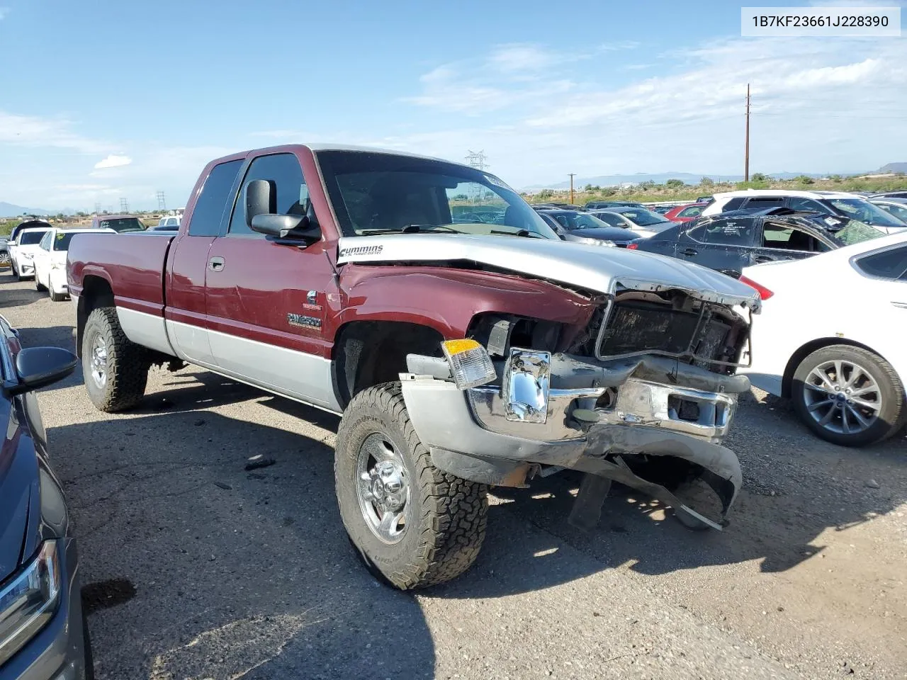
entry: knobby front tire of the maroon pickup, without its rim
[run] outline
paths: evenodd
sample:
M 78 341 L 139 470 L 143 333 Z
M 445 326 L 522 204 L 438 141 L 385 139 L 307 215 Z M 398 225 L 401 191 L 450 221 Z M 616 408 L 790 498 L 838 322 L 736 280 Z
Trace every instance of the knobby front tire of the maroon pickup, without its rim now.
M 385 543 L 369 528 L 356 492 L 356 456 L 375 432 L 394 442 L 410 480 L 410 526 L 395 544 Z M 472 566 L 485 538 L 488 487 L 434 467 L 409 420 L 399 383 L 356 394 L 340 422 L 334 460 L 346 533 L 376 578 L 409 590 L 444 583 Z

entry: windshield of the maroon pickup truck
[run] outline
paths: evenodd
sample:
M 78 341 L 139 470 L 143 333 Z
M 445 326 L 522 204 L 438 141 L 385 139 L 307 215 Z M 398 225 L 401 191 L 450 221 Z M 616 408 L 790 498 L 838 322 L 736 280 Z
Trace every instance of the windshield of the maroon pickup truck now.
M 318 151 L 344 236 L 494 234 L 560 240 L 519 194 L 481 170 L 368 151 Z

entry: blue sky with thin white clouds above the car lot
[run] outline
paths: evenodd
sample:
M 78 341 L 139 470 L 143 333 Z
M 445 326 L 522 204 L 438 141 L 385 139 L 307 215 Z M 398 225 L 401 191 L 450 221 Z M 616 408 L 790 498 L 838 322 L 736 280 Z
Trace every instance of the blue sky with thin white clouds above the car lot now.
M 905 38 L 741 38 L 739 8 L 0 0 L 0 200 L 177 207 L 286 141 L 481 149 L 517 187 L 740 173 L 747 82 L 752 170 L 907 160 Z

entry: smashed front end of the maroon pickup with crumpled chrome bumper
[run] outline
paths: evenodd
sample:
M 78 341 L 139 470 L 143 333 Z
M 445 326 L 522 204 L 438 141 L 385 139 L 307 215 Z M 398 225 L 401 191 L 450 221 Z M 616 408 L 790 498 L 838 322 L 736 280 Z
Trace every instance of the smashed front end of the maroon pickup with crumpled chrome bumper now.
M 725 292 L 614 280 L 581 328 L 483 318 L 444 358 L 407 357 L 415 432 L 436 467 L 471 481 L 586 473 L 571 513 L 581 527 L 619 481 L 689 527 L 721 529 L 742 483 L 721 442 L 749 388 L 735 370 L 759 308 L 726 280 Z

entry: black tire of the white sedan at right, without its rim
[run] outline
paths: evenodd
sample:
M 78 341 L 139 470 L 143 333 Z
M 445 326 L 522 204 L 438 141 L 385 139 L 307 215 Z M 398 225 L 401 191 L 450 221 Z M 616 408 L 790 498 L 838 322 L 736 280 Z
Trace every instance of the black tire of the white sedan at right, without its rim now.
M 815 366 L 827 361 L 834 361 L 835 359 L 852 361 L 861 365 L 864 370 L 873 376 L 873 380 L 879 385 L 883 400 L 882 411 L 879 413 L 875 423 L 863 432 L 857 432 L 856 434 L 830 432 L 819 423 L 816 423 L 806 409 L 803 386 L 806 377 Z M 898 378 L 898 374 L 894 372 L 892 364 L 889 364 L 881 356 L 863 349 L 863 347 L 829 345 L 822 349 L 817 349 L 811 355 L 806 356 L 794 372 L 791 398 L 794 402 L 795 412 L 800 416 L 800 420 L 803 421 L 806 427 L 826 442 L 832 442 L 840 446 L 866 446 L 881 442 L 901 430 L 904 424 L 907 423 L 904 387 Z

